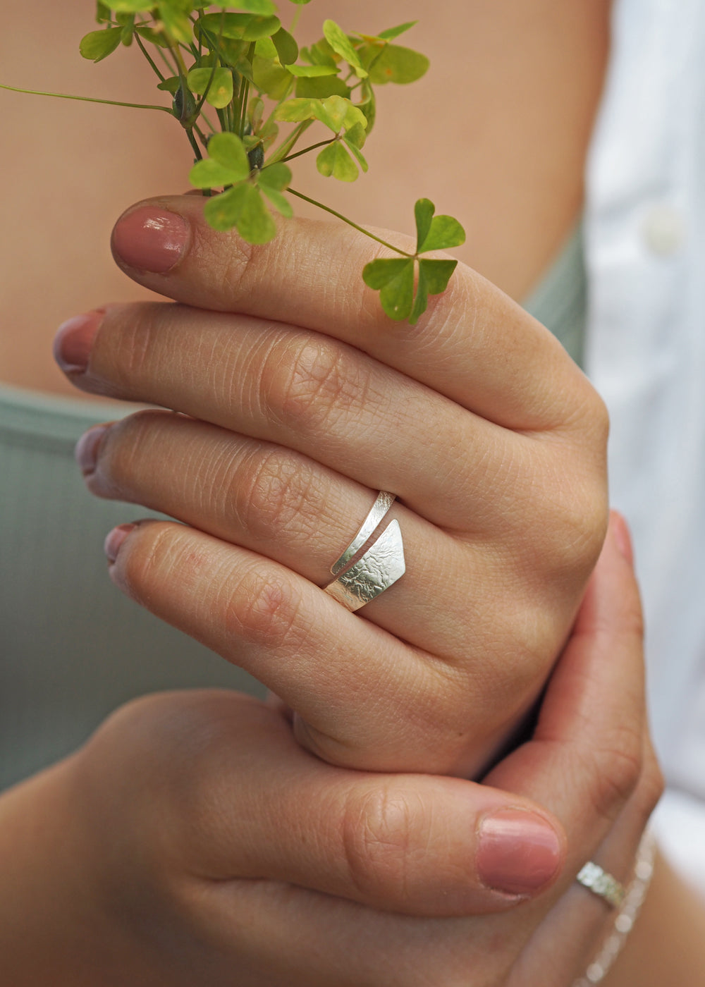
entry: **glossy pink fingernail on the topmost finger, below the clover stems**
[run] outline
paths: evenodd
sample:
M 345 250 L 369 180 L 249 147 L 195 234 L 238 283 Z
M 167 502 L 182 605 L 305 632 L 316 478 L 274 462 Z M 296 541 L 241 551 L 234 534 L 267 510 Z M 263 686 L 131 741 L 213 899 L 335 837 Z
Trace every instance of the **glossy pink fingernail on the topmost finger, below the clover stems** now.
M 113 230 L 113 253 L 128 267 L 165 274 L 181 261 L 189 224 L 177 212 L 141 205 L 125 212 Z

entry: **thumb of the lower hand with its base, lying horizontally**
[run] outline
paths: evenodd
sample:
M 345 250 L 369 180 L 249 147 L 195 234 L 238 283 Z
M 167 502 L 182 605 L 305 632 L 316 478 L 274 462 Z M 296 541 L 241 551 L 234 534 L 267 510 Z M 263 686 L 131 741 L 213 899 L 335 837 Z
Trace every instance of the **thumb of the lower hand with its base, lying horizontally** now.
M 193 694 L 156 697 L 147 709 L 145 728 L 179 763 L 178 777 L 164 778 L 175 799 L 166 852 L 176 847 L 203 880 L 286 881 L 386 911 L 449 916 L 507 910 L 560 871 L 561 828 L 529 799 L 331 767 L 272 710 L 228 693 L 196 705 Z M 140 732 L 132 724 L 130 742 Z

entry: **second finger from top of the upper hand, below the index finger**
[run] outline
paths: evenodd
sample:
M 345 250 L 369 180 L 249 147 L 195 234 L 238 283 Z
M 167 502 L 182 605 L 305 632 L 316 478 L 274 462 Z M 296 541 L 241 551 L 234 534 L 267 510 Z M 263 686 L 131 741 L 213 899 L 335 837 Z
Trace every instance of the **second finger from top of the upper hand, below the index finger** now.
M 57 354 L 83 390 L 284 445 L 366 487 L 390 490 L 455 530 L 471 518 L 472 529 L 494 532 L 509 499 L 510 516 L 520 516 L 522 501 L 535 500 L 536 477 L 553 469 L 554 442 L 566 471 L 575 461 L 574 498 L 587 500 L 583 483 L 591 490 L 588 479 L 601 476 L 575 442 L 515 436 L 310 332 L 182 306 L 111 306 L 100 328 L 93 325 L 97 335 L 80 369 L 76 331 L 69 323 L 59 332 Z

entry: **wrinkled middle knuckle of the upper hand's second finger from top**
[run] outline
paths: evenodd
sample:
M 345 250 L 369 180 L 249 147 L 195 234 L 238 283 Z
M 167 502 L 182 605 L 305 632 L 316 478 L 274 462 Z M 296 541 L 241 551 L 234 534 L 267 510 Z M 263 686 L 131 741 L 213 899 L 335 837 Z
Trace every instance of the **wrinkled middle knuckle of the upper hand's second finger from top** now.
M 364 402 L 369 372 L 347 347 L 309 337 L 275 347 L 263 369 L 263 396 L 283 423 L 320 433 Z

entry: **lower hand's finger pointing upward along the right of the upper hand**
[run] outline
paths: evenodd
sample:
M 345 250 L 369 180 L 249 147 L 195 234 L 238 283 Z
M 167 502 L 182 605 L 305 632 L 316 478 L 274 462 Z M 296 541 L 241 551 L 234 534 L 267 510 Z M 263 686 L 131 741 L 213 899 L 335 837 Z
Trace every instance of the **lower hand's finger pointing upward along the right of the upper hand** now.
M 644 770 L 643 622 L 623 519 L 608 537 L 535 735 L 488 776 L 562 820 L 570 854 L 595 848 Z M 584 860 L 574 859 L 576 871 Z

